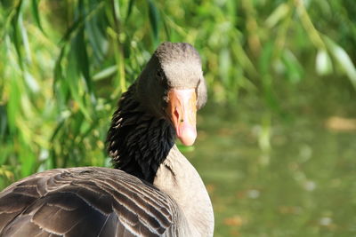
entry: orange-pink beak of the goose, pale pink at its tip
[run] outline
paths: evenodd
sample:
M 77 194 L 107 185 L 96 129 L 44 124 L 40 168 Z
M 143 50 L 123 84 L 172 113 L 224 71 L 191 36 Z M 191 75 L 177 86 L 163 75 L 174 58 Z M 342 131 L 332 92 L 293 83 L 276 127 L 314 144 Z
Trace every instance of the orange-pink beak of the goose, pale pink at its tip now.
M 168 107 L 166 109 L 182 144 L 193 145 L 197 138 L 197 94 L 195 89 L 171 89 L 168 92 Z

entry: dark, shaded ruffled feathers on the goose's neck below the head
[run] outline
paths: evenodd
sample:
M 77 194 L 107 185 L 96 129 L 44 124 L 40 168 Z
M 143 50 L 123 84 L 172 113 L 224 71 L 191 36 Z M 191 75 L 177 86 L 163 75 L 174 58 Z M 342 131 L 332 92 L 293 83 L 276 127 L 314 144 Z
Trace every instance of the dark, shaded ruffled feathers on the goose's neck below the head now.
M 175 131 L 165 118 L 147 112 L 135 96 L 133 84 L 118 102 L 107 144 L 114 168 L 150 183 L 174 146 Z

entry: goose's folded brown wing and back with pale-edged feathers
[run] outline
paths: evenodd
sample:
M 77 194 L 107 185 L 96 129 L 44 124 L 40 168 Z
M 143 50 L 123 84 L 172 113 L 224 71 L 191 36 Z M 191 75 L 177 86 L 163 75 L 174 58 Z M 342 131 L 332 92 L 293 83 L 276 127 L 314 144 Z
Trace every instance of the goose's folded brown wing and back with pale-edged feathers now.
M 176 231 L 177 212 L 166 194 L 121 170 L 48 170 L 0 193 L 0 235 L 162 236 Z

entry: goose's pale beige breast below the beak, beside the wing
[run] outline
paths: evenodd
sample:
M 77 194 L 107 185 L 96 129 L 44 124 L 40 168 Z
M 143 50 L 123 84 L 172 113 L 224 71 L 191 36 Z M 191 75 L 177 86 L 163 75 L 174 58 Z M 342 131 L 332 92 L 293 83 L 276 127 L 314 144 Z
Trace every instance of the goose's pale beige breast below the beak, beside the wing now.
M 176 201 L 191 236 L 213 236 L 214 213 L 206 186 L 177 146 L 159 166 L 153 184 Z

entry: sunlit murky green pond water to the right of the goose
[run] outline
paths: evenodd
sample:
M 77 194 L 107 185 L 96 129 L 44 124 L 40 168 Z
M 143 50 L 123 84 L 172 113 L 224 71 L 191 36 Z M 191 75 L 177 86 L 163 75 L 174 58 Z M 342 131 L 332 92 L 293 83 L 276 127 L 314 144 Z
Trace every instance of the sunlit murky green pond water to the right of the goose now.
M 356 236 L 354 120 L 302 115 L 263 128 L 233 114 L 203 111 L 185 152 L 213 201 L 214 236 Z

